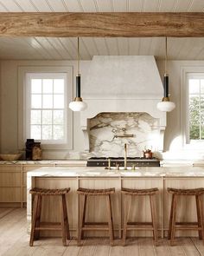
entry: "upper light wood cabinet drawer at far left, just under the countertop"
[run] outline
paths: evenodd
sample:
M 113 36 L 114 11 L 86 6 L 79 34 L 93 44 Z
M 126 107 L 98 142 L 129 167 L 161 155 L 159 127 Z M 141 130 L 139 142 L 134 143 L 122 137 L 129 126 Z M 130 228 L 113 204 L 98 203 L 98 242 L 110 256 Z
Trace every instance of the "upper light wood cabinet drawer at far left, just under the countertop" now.
M 0 172 L 0 187 L 21 187 L 21 173 Z

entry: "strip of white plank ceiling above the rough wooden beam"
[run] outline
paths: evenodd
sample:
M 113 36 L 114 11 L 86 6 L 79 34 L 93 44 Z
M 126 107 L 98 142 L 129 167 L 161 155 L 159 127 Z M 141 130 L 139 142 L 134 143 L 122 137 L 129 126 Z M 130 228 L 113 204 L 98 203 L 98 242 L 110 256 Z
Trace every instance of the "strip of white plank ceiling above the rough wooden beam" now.
M 1 0 L 1 11 L 201 11 L 202 0 Z

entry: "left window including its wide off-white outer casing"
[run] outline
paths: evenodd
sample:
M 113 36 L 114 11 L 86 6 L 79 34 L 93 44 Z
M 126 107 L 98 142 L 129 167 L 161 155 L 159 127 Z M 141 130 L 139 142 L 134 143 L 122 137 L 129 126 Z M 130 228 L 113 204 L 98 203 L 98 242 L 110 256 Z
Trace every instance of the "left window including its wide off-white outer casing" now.
M 73 67 L 35 65 L 18 67 L 18 148 L 35 139 L 48 157 L 61 157 L 73 148 Z

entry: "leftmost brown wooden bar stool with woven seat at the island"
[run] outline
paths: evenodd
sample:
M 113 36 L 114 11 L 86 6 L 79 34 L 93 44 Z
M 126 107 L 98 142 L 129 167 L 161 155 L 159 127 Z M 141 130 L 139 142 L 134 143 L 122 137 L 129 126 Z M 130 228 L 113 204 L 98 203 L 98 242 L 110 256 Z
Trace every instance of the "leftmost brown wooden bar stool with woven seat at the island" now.
M 29 191 L 30 194 L 35 196 L 29 246 L 33 246 L 34 240 L 39 239 L 41 230 L 61 230 L 63 246 L 67 246 L 67 240 L 70 239 L 70 235 L 65 196 L 69 190 L 70 188 L 44 189 L 35 187 Z M 42 196 L 61 196 L 61 223 L 41 223 Z

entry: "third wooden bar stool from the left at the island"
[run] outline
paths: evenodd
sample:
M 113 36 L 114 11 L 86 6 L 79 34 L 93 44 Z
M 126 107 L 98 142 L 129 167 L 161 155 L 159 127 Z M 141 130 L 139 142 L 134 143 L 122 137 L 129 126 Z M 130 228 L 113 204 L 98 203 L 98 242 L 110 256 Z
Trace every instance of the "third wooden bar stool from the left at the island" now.
M 158 192 L 158 188 L 150 189 L 131 189 L 122 188 L 121 192 L 124 194 L 124 201 L 127 204 L 124 211 L 124 232 L 123 232 L 123 246 L 125 245 L 127 230 L 152 230 L 155 245 L 157 246 L 157 228 L 156 228 L 156 208 L 154 202 L 154 195 Z M 150 196 L 151 220 L 152 222 L 128 222 L 129 213 L 131 211 L 131 200 L 128 196 Z

